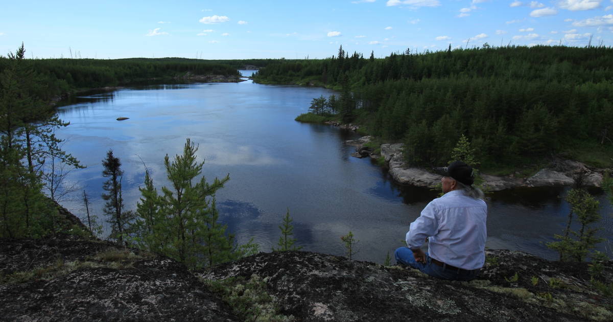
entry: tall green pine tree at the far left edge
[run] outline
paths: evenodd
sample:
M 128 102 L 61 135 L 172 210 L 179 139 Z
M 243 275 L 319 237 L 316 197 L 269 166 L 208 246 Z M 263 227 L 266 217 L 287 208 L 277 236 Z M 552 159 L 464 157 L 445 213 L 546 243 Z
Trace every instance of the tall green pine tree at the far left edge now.
M 23 44 L 9 53 L 0 72 L 0 236 L 40 237 L 55 232 L 54 206 L 42 194 L 40 174 L 32 171 L 23 131 L 31 115 L 45 115 L 32 88 Z M 41 116 L 42 117 L 42 116 Z M 26 164 L 24 164 L 26 162 Z

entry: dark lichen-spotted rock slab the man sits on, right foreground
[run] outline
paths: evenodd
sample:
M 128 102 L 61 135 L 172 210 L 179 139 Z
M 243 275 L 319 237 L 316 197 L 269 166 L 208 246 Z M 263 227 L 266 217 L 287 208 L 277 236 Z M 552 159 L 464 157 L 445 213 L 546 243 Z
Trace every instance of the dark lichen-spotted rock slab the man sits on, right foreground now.
M 281 313 L 300 321 L 585 321 L 587 318 L 607 321 L 613 317 L 606 309 L 611 301 L 590 298 L 593 294 L 585 288 L 551 289 L 544 282 L 542 288 L 528 288 L 532 286 L 531 274 L 558 276 L 556 272 L 564 272 L 558 269 L 566 264 L 547 262 L 520 252 L 493 251 L 489 256 L 498 256 L 501 263 L 485 268 L 482 277 L 491 280 L 470 283 L 446 282 L 413 269 L 297 251 L 260 253 L 212 267 L 199 275 L 212 280 L 259 275 L 267 281 L 269 293 L 278 299 Z M 526 261 L 534 264 L 520 265 Z M 519 267 L 511 267 L 511 263 Z M 543 270 L 538 270 L 539 267 Z M 573 276 L 585 282 L 585 269 L 584 265 L 577 265 L 578 275 Z M 612 274 L 610 263 L 606 270 Z M 520 278 L 507 282 L 504 277 L 508 275 L 512 280 L 516 272 Z M 538 295 L 545 291 L 551 298 Z

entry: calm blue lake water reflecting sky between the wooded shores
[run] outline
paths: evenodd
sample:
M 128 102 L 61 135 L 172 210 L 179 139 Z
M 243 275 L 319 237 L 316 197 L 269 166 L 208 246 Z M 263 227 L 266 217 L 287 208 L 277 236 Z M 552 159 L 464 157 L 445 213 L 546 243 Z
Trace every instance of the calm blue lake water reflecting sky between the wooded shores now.
M 251 75 L 250 71 L 244 74 Z M 75 98 L 59 108 L 70 121 L 58 136 L 86 169 L 72 172 L 102 217 L 101 160 L 112 148 L 121 159 L 124 204 L 135 209 L 145 167 L 161 190 L 167 185 L 163 159 L 182 153 L 186 138 L 199 144 L 207 180 L 230 174 L 216 195 L 222 220 L 239 242 L 251 237 L 270 251 L 280 236 L 286 209 L 304 250 L 343 255 L 340 236 L 352 231 L 359 240 L 357 259 L 382 263 L 387 251 L 403 245 L 408 224 L 419 217 L 436 193 L 390 181 L 369 159 L 350 156 L 345 140 L 353 132 L 294 121 L 310 101 L 332 91 L 299 86 L 201 83 L 126 88 Z M 116 121 L 118 117 L 129 120 Z M 493 194 L 489 202 L 490 248 L 524 250 L 544 258 L 544 247 L 565 226 L 568 204 L 562 188 L 512 190 Z M 85 217 L 78 200 L 61 202 Z M 606 198 L 598 199 L 606 203 Z M 607 204 L 603 215 L 611 213 Z M 605 218 L 603 236 L 613 239 Z M 600 249 L 609 251 L 606 243 Z

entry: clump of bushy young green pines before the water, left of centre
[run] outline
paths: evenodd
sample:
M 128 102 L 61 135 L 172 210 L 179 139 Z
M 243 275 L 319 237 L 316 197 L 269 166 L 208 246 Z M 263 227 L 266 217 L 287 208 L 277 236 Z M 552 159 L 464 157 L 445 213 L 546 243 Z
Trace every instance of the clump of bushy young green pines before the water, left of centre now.
M 137 244 L 186 264 L 190 269 L 236 259 L 234 238 L 219 223 L 215 193 L 229 176 L 207 183 L 202 174 L 204 161 L 196 161 L 198 147 L 187 139 L 182 155 L 164 158 L 170 187 L 158 196 L 150 174 L 137 206 Z M 244 253 L 243 253 L 244 254 Z

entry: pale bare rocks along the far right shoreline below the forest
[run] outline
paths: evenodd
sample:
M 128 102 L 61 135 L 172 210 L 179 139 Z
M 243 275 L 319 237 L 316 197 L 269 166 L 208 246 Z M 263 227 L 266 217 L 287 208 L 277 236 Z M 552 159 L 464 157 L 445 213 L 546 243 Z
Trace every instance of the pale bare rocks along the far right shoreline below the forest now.
M 440 183 L 440 175 L 433 174 L 425 169 L 406 166 L 402 143 L 382 144 L 380 155 L 373 155 L 371 149 L 364 150 L 364 144 L 360 142 L 362 140 L 370 142 L 372 139 L 372 137 L 368 136 L 348 141 L 347 144 L 356 146 L 356 153 L 352 154 L 352 156 L 364 158 L 367 156 L 367 153 L 370 153 L 371 158 L 383 157 L 389 168 L 389 174 L 399 183 L 425 188 Z M 574 178 L 577 175 L 582 175 L 584 185 L 600 187 L 603 180 L 602 172 L 602 170 L 591 169 L 585 166 L 585 164 L 576 161 L 554 159 L 549 168 L 541 169 L 541 171 L 528 178 L 517 178 L 515 175 L 497 177 L 487 174 L 481 174 L 481 178 L 484 180 L 482 186 L 487 191 L 500 191 L 518 187 L 568 186 L 573 185 Z

